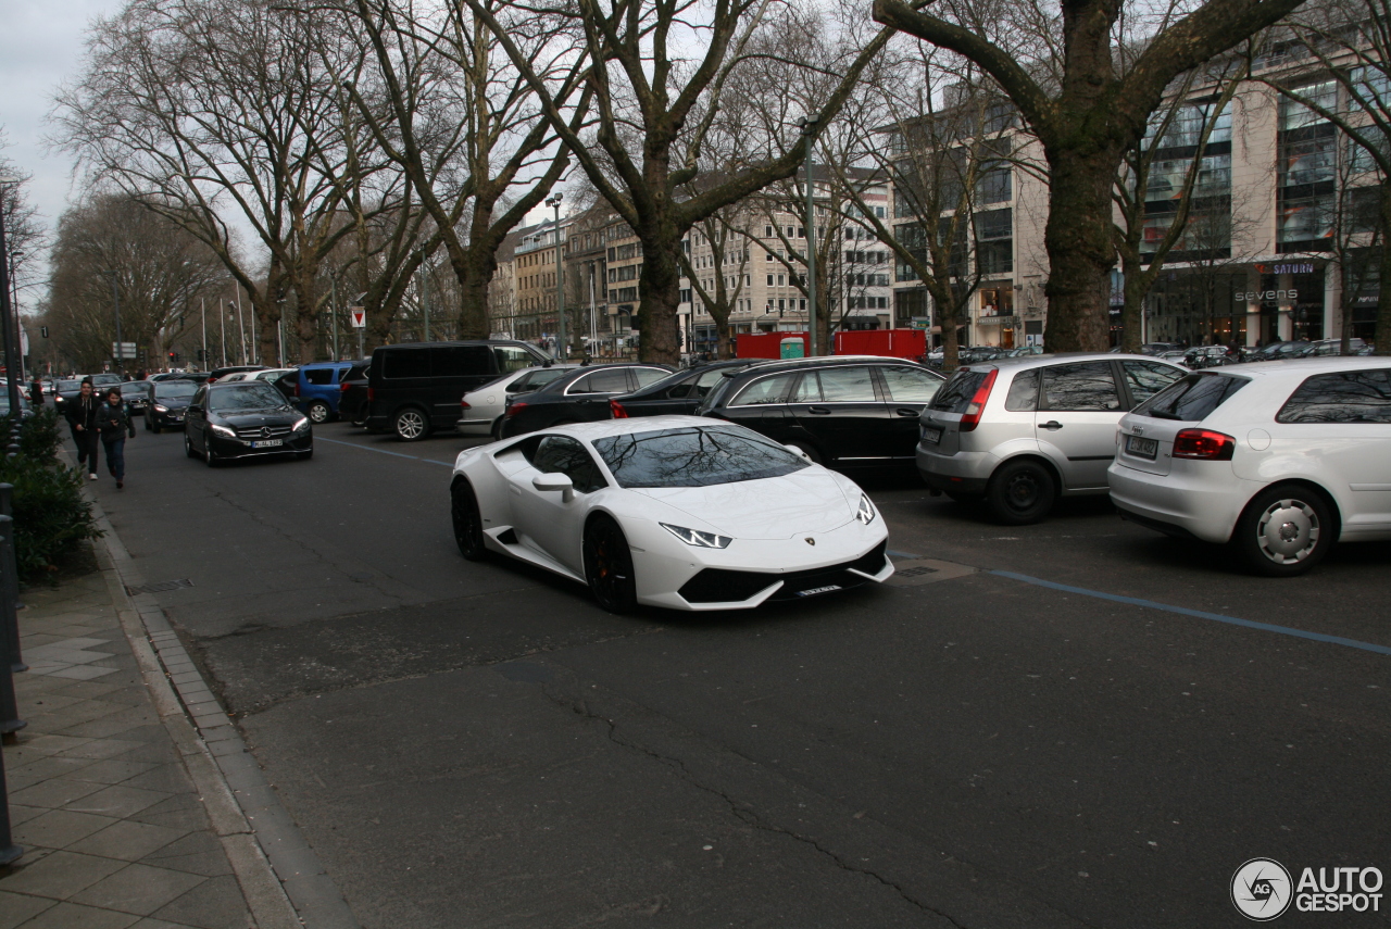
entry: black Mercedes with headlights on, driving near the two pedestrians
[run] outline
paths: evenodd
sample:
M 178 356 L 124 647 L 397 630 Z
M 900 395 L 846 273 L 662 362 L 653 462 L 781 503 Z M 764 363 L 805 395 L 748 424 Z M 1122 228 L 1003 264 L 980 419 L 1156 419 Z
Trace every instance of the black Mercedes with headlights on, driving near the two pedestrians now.
M 309 417 L 264 381 L 198 388 L 184 423 L 184 452 L 209 467 L 239 458 L 314 453 Z

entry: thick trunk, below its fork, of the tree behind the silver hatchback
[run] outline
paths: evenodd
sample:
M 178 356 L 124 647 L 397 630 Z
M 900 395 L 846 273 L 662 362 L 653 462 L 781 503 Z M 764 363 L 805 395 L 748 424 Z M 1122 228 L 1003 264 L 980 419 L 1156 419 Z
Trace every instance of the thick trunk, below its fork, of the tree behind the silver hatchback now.
M 1049 352 L 1104 352 L 1110 348 L 1111 184 L 1123 149 L 1049 152 L 1052 186 L 1043 243 L 1049 257 Z

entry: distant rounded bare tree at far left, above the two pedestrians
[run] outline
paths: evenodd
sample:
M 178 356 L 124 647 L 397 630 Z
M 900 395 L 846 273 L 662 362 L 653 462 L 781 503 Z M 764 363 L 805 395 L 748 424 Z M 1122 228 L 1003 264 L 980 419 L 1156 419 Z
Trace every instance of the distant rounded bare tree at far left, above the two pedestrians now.
M 124 195 L 99 195 L 58 218 L 45 324 L 53 346 L 85 370 L 99 370 L 121 338 L 146 353 L 145 366 L 199 325 L 199 300 L 225 284 L 220 257 L 182 224 Z

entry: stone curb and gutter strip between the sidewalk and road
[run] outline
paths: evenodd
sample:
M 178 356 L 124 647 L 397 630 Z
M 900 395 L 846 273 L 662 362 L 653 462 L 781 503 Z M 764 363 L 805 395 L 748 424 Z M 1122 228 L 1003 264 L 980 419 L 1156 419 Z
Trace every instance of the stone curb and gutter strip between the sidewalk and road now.
M 150 594 L 100 501 L 83 487 L 103 531 L 93 551 L 121 627 L 164 727 L 202 794 L 207 816 L 262 929 L 360 929 L 274 787 L 223 712 Z

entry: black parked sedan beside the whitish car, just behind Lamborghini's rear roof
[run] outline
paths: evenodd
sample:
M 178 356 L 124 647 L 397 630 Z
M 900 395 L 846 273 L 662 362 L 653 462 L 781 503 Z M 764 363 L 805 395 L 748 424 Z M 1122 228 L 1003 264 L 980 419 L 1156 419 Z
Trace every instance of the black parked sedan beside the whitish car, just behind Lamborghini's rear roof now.
M 502 413 L 502 438 L 568 423 L 611 419 L 609 398 L 632 394 L 670 375 L 670 367 L 647 362 L 577 367 L 538 391 L 508 398 Z

